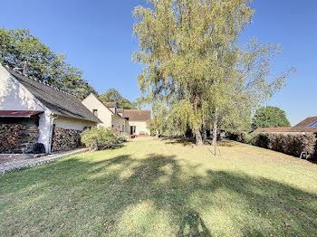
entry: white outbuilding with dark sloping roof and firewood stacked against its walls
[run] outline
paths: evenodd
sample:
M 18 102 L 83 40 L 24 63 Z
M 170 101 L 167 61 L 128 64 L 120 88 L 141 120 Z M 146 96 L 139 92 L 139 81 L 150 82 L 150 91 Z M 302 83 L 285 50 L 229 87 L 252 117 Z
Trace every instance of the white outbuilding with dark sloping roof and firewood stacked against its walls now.
M 0 64 L 0 153 L 78 147 L 82 130 L 100 122 L 71 94 Z

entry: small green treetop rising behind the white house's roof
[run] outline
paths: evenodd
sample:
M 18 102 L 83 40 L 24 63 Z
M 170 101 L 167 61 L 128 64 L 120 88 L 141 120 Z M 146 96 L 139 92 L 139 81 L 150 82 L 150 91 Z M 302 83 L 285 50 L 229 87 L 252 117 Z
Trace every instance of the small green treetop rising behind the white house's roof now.
M 109 90 L 101 94 L 99 98 L 104 102 L 117 102 L 117 106 L 120 109 L 137 109 L 135 103 L 132 103 L 130 100 L 123 98 L 119 91 L 115 90 L 114 88 L 110 88 Z

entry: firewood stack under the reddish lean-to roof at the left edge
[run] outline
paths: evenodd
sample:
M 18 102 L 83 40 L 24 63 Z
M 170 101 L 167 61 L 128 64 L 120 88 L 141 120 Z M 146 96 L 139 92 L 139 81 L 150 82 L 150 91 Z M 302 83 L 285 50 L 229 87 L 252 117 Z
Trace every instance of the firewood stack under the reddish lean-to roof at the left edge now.
M 23 124 L 0 125 L 0 153 L 26 153 L 32 150 L 39 137 L 37 127 Z

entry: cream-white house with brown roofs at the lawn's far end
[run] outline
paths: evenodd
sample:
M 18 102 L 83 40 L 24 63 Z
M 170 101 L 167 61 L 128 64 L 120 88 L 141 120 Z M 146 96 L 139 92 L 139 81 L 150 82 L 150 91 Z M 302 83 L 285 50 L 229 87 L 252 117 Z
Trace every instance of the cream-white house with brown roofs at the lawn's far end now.
M 150 135 L 147 128 L 150 110 L 120 109 L 116 102 L 103 102 L 93 94 L 82 100 L 82 104 L 101 120 L 99 126 L 129 135 Z

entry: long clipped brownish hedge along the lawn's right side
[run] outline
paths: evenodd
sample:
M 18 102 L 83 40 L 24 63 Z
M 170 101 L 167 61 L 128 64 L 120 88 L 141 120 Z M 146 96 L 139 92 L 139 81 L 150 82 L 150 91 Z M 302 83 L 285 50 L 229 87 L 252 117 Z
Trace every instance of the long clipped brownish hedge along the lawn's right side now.
M 291 156 L 300 157 L 307 152 L 306 158 L 317 159 L 317 133 L 260 133 L 246 132 L 231 133 L 229 138 L 235 141 L 264 147 L 283 152 Z

